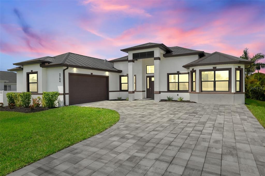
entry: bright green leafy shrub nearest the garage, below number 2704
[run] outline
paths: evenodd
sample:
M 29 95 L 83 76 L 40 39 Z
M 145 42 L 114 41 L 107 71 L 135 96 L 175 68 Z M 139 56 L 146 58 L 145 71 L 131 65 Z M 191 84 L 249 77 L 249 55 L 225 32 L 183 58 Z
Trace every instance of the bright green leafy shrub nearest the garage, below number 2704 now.
M 53 108 L 57 105 L 59 92 L 42 92 L 42 106 L 47 108 Z

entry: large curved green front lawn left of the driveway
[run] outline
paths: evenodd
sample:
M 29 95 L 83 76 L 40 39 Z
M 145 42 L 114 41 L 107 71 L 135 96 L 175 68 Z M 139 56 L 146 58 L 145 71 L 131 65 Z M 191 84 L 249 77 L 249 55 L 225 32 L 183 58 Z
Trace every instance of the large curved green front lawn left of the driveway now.
M 80 106 L 0 113 L 0 175 L 94 136 L 120 118 L 114 110 Z

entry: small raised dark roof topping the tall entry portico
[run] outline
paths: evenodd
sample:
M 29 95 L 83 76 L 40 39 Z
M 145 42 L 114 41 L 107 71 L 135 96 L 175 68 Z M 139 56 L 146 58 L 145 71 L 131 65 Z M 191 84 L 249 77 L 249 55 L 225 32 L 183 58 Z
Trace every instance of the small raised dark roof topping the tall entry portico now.
M 121 49 L 121 51 L 128 53 L 129 51 L 139 50 L 139 49 L 148 49 L 148 48 L 160 48 L 166 52 L 172 52 L 170 48 L 168 48 L 163 43 L 145 43 L 142 45 L 137 45 L 134 47 L 129 47 L 125 49 Z

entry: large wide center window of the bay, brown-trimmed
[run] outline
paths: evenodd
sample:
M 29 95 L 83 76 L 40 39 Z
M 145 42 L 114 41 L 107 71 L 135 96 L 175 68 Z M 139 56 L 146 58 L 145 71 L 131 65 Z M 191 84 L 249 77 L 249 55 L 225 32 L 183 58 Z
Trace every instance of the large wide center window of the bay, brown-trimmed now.
M 201 71 L 201 91 L 229 92 L 229 70 Z

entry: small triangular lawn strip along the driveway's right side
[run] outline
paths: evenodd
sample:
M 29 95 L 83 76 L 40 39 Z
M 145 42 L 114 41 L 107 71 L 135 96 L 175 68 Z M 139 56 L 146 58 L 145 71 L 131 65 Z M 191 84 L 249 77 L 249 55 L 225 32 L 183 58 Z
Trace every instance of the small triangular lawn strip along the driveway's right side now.
M 250 112 L 258 119 L 259 123 L 265 128 L 265 101 L 245 99 L 246 106 Z

